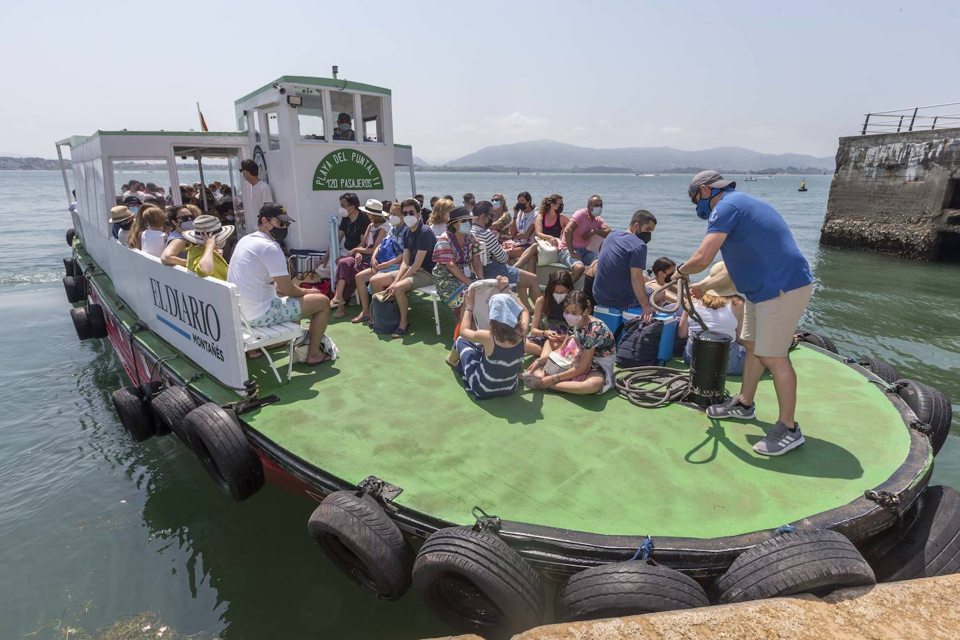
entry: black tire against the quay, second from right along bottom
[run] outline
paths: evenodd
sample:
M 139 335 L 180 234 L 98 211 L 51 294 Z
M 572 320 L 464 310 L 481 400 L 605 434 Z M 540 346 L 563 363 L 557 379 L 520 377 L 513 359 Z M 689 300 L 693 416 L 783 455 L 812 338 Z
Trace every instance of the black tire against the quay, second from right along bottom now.
M 874 570 L 850 540 L 818 529 L 783 533 L 748 549 L 717 587 L 720 603 L 728 604 L 874 583 Z

